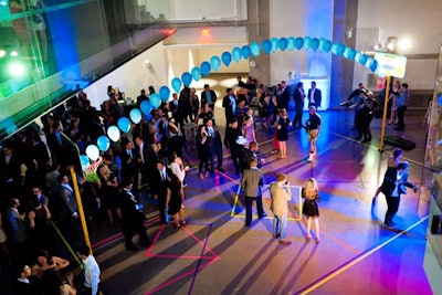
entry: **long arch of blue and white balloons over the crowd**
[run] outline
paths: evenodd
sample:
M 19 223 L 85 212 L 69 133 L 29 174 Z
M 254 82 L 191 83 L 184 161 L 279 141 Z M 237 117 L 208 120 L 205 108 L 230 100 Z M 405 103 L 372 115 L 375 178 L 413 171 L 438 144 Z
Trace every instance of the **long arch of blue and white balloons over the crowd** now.
M 344 56 L 350 61 L 357 62 L 362 66 L 369 69 L 375 72 L 378 67 L 378 62 L 371 57 L 362 53 L 361 51 L 357 51 L 352 48 L 346 46 L 343 43 L 334 43 L 324 38 L 272 38 L 271 40 L 264 40 L 261 44 L 259 42 L 253 42 L 250 45 L 244 45 L 240 48 L 233 48 L 231 52 L 223 52 L 220 56 L 213 55 L 210 57 L 210 61 L 204 61 L 201 63 L 200 67 L 194 66 L 190 73 L 185 72 L 181 75 L 181 78 L 173 77 L 171 81 L 171 87 L 176 93 L 179 93 L 182 84 L 186 86 L 190 86 L 191 82 L 199 81 L 201 76 L 208 76 L 212 70 L 219 71 L 221 63 L 225 66 L 229 66 L 232 62 L 240 62 L 241 59 L 249 60 L 251 55 L 259 56 L 261 51 L 264 53 L 275 53 L 277 50 L 308 50 L 312 49 L 314 51 L 322 50 L 326 53 L 330 52 L 336 55 Z M 168 86 L 161 86 L 159 88 L 159 93 L 154 93 L 149 96 L 149 101 L 144 101 L 139 108 L 134 108 L 130 110 L 129 117 L 134 124 L 138 124 L 143 114 L 148 118 L 150 117 L 150 112 L 161 105 L 161 101 L 168 101 L 170 96 L 170 89 Z M 143 113 L 143 114 L 141 114 Z M 118 119 L 117 126 L 112 125 L 107 128 L 107 136 L 103 135 L 98 137 L 97 145 L 88 145 L 86 148 L 86 155 L 81 155 L 81 164 L 84 171 L 90 168 L 90 160 L 97 161 L 99 159 L 99 150 L 107 151 L 110 147 L 110 140 L 117 141 L 120 137 L 120 130 L 123 133 L 127 133 L 130 130 L 130 120 L 126 117 L 122 117 Z

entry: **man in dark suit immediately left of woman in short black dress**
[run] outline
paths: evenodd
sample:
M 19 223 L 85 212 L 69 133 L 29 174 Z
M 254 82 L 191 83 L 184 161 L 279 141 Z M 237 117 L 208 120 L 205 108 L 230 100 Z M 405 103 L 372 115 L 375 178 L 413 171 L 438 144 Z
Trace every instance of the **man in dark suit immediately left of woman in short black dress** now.
M 158 200 L 159 217 L 162 223 L 169 222 L 166 204 L 167 204 L 167 191 L 170 185 L 169 175 L 171 172 L 172 171 L 170 171 L 170 169 L 166 168 L 164 161 L 161 160 L 157 161 L 157 171 L 154 175 L 155 187 L 152 189 L 154 189 L 154 198 Z

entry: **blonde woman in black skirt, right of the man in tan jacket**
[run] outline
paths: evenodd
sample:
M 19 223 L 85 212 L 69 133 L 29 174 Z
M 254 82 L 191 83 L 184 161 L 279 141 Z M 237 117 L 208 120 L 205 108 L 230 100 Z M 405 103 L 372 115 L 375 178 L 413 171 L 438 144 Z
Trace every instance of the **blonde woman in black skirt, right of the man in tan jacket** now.
M 308 178 L 307 181 L 305 181 L 305 185 L 302 189 L 302 197 L 305 199 L 304 204 L 303 204 L 303 213 L 307 218 L 307 234 L 305 239 L 308 241 L 312 240 L 311 235 L 311 228 L 312 228 L 312 221 L 315 222 L 315 231 L 316 231 L 316 243 L 320 242 L 319 238 L 319 209 L 317 206 L 317 202 L 320 200 L 319 199 L 319 191 L 317 187 L 317 181 L 314 178 Z

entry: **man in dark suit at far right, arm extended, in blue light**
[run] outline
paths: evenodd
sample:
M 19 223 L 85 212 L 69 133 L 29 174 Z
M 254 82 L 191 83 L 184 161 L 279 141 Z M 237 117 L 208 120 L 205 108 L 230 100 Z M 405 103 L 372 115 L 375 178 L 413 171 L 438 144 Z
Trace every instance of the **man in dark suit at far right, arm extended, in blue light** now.
M 394 222 L 392 221 L 394 214 L 398 212 L 400 196 L 407 193 L 407 188 L 412 188 L 414 192 L 418 187 L 408 181 L 408 164 L 400 162 L 397 167 L 390 167 L 386 171 L 381 191 L 387 198 L 387 212 L 383 223 L 392 228 Z

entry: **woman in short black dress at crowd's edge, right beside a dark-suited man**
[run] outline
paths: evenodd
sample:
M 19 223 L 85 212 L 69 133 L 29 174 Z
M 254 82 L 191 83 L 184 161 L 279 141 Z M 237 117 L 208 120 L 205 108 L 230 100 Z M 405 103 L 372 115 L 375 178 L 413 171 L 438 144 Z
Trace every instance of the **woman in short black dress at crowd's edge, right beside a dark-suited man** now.
M 182 206 L 185 194 L 182 192 L 182 186 L 179 178 L 173 173 L 169 173 L 169 177 L 170 183 L 167 190 L 167 199 L 169 200 L 169 203 L 167 206 L 169 208 L 168 213 L 173 217 L 175 228 L 179 229 L 181 226 L 180 219 L 182 226 L 186 225 L 185 209 Z

